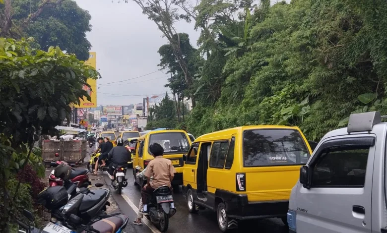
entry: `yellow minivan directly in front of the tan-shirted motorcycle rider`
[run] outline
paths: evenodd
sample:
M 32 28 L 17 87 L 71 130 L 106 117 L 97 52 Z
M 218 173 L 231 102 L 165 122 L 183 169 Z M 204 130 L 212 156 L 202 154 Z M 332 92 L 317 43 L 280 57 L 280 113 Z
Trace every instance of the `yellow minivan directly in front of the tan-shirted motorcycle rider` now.
M 136 178 L 136 173 L 141 172 L 149 162 L 154 159 L 150 154 L 149 146 L 158 143 L 164 148 L 163 157 L 170 159 L 177 174 L 172 181 L 175 191 L 183 184 L 183 154 L 187 154 L 191 147 L 191 140 L 186 131 L 183 130 L 158 130 L 150 131 L 137 139 L 133 158 L 133 182 L 134 185 L 143 185 L 146 180 Z M 141 169 L 137 170 L 136 166 Z

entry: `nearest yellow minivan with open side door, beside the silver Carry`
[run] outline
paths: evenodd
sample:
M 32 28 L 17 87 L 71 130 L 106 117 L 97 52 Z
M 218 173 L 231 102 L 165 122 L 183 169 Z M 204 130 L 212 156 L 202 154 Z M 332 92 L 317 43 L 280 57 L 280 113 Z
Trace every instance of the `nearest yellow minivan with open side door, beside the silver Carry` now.
M 238 220 L 281 218 L 286 224 L 290 192 L 312 151 L 298 127 L 254 125 L 202 135 L 183 172 L 191 213 L 216 211 L 222 232 Z

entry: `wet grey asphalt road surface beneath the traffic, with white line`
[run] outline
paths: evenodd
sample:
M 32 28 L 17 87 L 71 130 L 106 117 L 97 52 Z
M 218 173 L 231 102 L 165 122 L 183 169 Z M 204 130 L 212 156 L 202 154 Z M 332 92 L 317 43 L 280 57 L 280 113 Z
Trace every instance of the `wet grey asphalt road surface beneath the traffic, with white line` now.
M 105 175 L 105 181 L 109 182 L 109 178 Z M 123 214 L 129 217 L 129 224 L 125 231 L 126 233 L 151 233 L 152 231 L 146 226 L 136 226 L 132 222 L 136 218 L 136 212 L 129 206 L 128 201 L 132 202 L 136 207 L 140 200 L 140 188 L 133 185 L 133 175 L 131 168 L 128 169 L 127 178 L 129 184 L 123 190 L 123 195 L 118 195 L 117 190 L 112 189 L 112 196 L 117 202 Z M 210 210 L 200 210 L 197 214 L 188 212 L 185 198 L 180 190 L 174 194 L 175 207 L 177 213 L 170 219 L 168 233 L 221 233 L 216 222 L 216 214 Z M 280 219 L 271 218 L 263 220 L 244 221 L 239 224 L 239 229 L 233 230 L 234 233 L 288 233 L 288 229 Z M 153 231 L 153 233 L 158 233 Z

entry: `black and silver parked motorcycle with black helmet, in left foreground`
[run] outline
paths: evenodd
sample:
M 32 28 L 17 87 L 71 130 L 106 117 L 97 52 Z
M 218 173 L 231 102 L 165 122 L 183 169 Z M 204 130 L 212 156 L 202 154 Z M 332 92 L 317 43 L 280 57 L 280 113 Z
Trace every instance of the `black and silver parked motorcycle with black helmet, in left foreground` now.
M 95 187 L 102 186 L 102 183 L 95 184 Z M 60 222 L 67 228 L 76 229 L 80 225 L 106 217 L 106 206 L 110 206 L 109 197 L 108 189 L 98 188 L 90 191 L 89 188 L 77 188 L 75 184 L 65 180 L 64 186 L 44 189 L 38 195 L 37 203 L 43 204 L 51 212 L 51 221 L 54 224 Z M 75 203 L 78 205 L 72 207 Z M 63 214 L 67 213 L 68 209 L 80 220 L 67 222 Z

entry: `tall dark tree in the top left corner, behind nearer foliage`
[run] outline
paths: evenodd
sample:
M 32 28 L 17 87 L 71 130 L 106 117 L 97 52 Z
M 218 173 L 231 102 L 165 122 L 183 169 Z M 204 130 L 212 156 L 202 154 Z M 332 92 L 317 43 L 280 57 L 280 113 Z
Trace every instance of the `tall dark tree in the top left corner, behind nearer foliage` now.
M 6 13 L 5 9 L 5 5 L 0 5 L 0 15 Z M 87 60 L 91 47 L 86 39 L 86 32 L 91 31 L 90 19 L 90 14 L 73 0 L 12 0 L 12 27 L 8 31 L 2 29 L 1 35 L 32 36 L 41 50 L 60 46 L 78 59 Z

